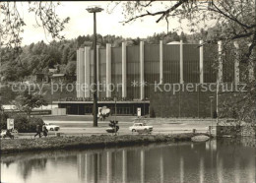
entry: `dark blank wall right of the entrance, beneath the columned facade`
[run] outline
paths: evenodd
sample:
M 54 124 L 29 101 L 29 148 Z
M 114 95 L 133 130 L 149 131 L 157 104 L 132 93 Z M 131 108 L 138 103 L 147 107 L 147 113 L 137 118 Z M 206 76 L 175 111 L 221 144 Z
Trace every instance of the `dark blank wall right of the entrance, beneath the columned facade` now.
M 192 85 L 192 84 L 191 84 Z M 196 87 L 196 84 L 193 84 Z M 160 86 L 163 89 L 163 86 Z M 211 117 L 216 111 L 216 92 L 202 91 L 160 91 L 151 86 L 150 111 L 157 117 Z M 212 113 L 211 113 L 211 99 Z

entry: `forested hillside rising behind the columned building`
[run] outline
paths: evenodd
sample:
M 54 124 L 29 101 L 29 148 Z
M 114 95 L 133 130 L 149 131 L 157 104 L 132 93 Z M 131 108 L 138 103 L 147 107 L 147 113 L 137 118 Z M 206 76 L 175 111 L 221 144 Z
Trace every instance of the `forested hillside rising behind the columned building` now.
M 111 43 L 112 47 L 121 46 L 122 41 L 127 41 L 127 45 L 139 45 L 141 40 L 146 43 L 157 44 L 160 40 L 163 43 L 183 40 L 184 42 L 198 42 L 199 39 L 207 36 L 207 31 L 188 35 L 183 31 L 168 33 L 155 33 L 147 38 L 124 38 L 122 36 L 97 34 L 97 44 L 105 47 L 106 43 Z M 79 47 L 93 46 L 93 35 L 79 35 L 75 39 L 65 39 L 49 43 L 39 41 L 22 47 L 19 54 L 15 50 L 1 49 L 1 82 L 21 82 L 27 80 L 29 76 L 43 73 L 47 74 L 49 69 L 58 68 L 59 73 L 68 76 L 76 75 L 76 50 Z

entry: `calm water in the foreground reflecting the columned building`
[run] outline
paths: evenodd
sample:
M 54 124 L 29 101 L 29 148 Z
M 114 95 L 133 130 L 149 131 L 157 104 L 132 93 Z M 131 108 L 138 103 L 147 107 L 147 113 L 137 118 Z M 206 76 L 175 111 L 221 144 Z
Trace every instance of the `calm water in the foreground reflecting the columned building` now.
M 2 182 L 253 183 L 255 148 L 214 140 L 144 147 L 3 155 Z

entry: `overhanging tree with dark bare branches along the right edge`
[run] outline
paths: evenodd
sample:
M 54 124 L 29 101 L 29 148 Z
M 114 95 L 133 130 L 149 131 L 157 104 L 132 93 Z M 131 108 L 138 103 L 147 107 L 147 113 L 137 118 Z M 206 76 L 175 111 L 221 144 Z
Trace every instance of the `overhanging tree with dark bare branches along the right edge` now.
M 129 1 L 115 2 L 123 7 L 125 20 L 123 24 L 134 22 L 145 17 L 157 17 L 156 23 L 166 21 L 167 32 L 168 22 L 171 18 L 178 18 L 180 22 L 188 20 L 188 28 L 191 32 L 200 30 L 198 25 L 204 25 L 207 32 L 203 32 L 204 44 L 216 44 L 222 40 L 224 50 L 222 52 L 223 62 L 228 62 L 224 53 L 233 52 L 233 41 L 236 41 L 239 48 L 238 58 L 241 67 L 245 68 L 241 75 L 245 78 L 247 92 L 242 95 L 240 101 L 236 100 L 235 107 L 238 111 L 239 120 L 254 121 L 256 105 L 256 1 L 254 0 L 176 0 L 164 2 L 160 10 L 158 1 Z M 156 11 L 158 10 L 158 11 Z M 207 23 L 207 24 L 206 24 Z M 210 24 L 209 24 L 210 23 Z M 202 29 L 202 28 L 201 28 Z M 168 34 L 168 33 L 166 33 Z M 199 39 L 198 39 L 199 40 Z M 196 40 L 196 41 L 198 41 Z M 218 59 L 216 59 L 218 62 Z M 248 75 L 254 70 L 254 77 L 248 80 Z M 246 80 L 247 79 L 247 80 Z M 232 111 L 232 107 L 229 105 Z M 252 117 L 253 116 L 253 117 Z

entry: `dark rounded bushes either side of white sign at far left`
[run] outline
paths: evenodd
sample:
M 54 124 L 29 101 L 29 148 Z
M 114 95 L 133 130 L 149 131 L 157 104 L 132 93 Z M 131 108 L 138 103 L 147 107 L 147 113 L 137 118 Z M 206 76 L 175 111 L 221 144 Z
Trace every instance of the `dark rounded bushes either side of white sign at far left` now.
M 5 113 L 0 113 L 0 128 L 7 129 L 7 118 L 10 116 Z M 14 118 L 14 128 L 20 133 L 30 133 L 35 132 L 36 125 L 42 126 L 43 120 L 41 118 L 28 118 L 24 115 L 15 115 Z

